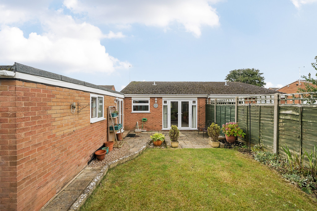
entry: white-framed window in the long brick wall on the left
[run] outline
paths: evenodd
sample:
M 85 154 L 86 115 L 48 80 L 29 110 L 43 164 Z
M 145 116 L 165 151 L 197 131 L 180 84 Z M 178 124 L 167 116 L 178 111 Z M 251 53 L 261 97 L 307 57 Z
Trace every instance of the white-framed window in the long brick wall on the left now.
M 90 123 L 104 120 L 103 95 L 90 94 Z

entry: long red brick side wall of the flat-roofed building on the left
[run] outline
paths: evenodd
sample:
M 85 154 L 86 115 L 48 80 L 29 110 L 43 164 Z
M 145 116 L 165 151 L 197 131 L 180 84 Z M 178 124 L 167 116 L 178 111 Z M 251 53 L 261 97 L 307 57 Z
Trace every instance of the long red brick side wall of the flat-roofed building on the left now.
M 90 123 L 89 106 L 77 113 L 90 102 L 79 90 L 1 80 L 0 97 L 0 208 L 38 210 L 107 141 L 107 120 Z M 114 98 L 104 98 L 105 117 Z

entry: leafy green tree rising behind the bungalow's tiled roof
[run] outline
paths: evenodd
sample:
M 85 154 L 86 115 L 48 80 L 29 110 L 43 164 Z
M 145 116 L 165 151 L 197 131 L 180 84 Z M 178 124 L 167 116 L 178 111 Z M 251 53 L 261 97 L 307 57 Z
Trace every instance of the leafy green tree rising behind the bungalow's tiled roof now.
M 246 84 L 252 84 L 256 86 L 264 86 L 264 77 L 261 76 L 261 73 L 258 69 L 239 69 L 239 70 L 232 70 L 229 72 L 225 80 L 227 81 L 237 81 L 243 82 Z

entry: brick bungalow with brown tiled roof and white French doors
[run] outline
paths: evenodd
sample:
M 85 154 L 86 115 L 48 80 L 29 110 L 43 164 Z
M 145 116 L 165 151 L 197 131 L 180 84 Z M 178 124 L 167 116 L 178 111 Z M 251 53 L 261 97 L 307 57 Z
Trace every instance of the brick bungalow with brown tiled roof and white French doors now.
M 125 96 L 125 129 L 134 130 L 136 122 L 143 130 L 197 130 L 205 124 L 207 99 L 227 99 L 271 95 L 277 91 L 240 82 L 150 82 L 132 81 L 122 91 Z

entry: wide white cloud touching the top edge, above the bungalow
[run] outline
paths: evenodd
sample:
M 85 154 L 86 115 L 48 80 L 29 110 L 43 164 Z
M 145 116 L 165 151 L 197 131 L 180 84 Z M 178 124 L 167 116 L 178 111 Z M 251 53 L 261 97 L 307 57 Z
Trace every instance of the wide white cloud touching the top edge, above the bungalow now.
M 219 25 L 216 9 L 208 0 L 135 0 L 135 1 L 80 1 L 64 0 L 64 5 L 74 13 L 88 14 L 89 18 L 104 24 L 120 27 L 134 23 L 161 27 L 165 30 L 172 24 L 182 25 L 186 31 L 199 37 L 204 26 Z M 95 5 L 98 5 L 96 7 Z

